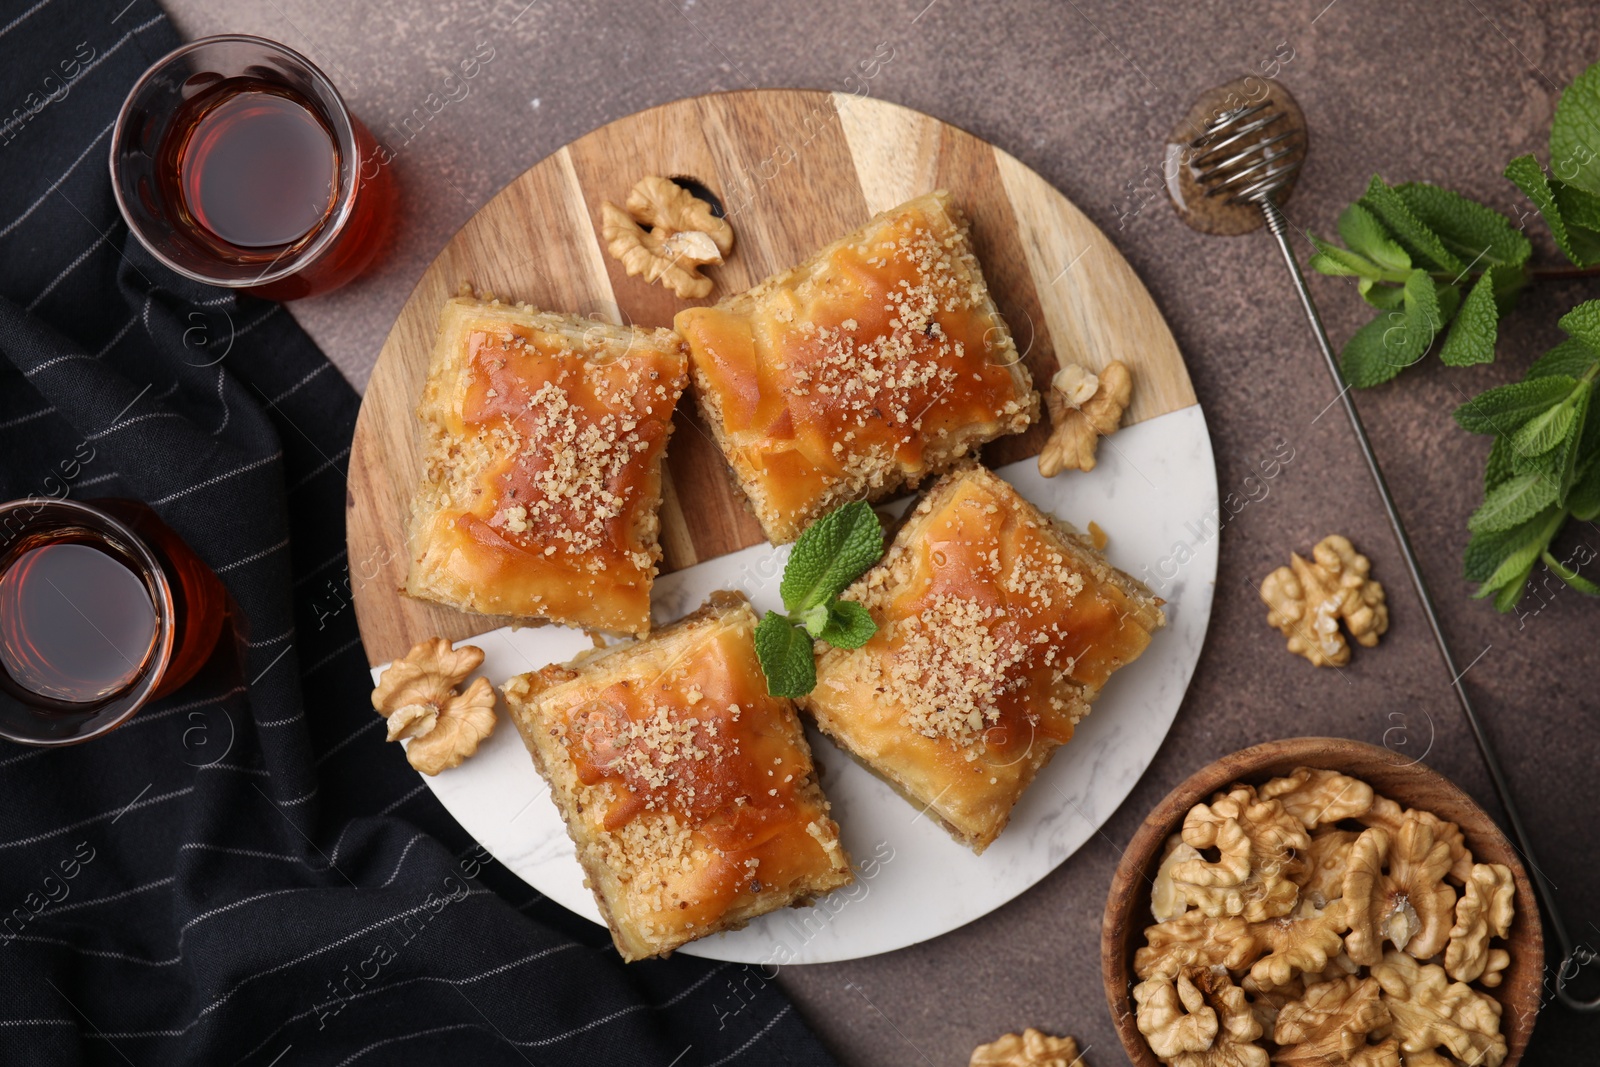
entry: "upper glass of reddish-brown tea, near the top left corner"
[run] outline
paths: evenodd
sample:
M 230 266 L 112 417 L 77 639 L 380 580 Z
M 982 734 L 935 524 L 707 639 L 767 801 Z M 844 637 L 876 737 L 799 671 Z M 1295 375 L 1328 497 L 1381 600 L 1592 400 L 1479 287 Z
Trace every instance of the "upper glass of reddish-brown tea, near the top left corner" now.
M 309 59 L 229 34 L 144 72 L 117 115 L 110 181 L 168 267 L 288 301 L 373 261 L 394 214 L 387 160 Z

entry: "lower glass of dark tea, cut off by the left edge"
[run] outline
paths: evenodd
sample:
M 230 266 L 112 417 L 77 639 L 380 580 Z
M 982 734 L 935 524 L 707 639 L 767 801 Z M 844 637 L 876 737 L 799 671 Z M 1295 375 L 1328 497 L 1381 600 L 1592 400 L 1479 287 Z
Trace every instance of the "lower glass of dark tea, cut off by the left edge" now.
M 144 504 L 0 504 L 0 737 L 115 729 L 206 662 L 227 592 Z

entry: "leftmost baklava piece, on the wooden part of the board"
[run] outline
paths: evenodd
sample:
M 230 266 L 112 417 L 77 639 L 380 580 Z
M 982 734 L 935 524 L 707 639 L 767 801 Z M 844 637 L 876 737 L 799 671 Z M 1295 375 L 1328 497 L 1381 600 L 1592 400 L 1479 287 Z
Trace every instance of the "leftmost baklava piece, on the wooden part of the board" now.
M 438 320 L 405 592 L 461 611 L 650 629 L 670 330 L 454 298 Z

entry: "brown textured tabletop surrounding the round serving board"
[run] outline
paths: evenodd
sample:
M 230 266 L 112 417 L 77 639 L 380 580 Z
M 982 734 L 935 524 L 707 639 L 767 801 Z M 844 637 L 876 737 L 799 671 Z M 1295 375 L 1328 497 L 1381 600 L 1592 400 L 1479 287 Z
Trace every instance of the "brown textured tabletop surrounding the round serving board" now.
M 1333 230 L 1373 171 L 1445 181 L 1515 216 L 1522 197 L 1499 171 L 1522 152 L 1544 155 L 1558 88 L 1600 59 L 1590 5 L 525 3 L 168 0 L 187 35 L 254 32 L 306 51 L 397 149 L 402 213 L 386 261 L 339 293 L 293 306 L 357 386 L 438 248 L 547 152 L 611 118 L 694 93 L 851 91 L 862 85 L 858 64 L 877 54 L 867 91 L 1006 149 L 1106 229 L 1189 360 L 1224 496 L 1259 498 L 1221 533 L 1211 637 L 1178 723 L 1090 845 L 960 931 L 872 960 L 782 973 L 779 982 L 843 1062 L 965 1064 L 979 1041 L 1024 1025 L 1077 1035 L 1093 1064 L 1122 1062 L 1098 961 L 1117 849 L 1168 789 L 1234 749 L 1298 734 L 1405 744 L 1427 750 L 1434 768 L 1493 809 L 1349 427 L 1336 410 L 1318 418 L 1333 390 L 1275 253 L 1259 234 L 1208 238 L 1182 229 L 1160 195 L 1160 139 L 1198 90 L 1293 50 L 1282 78 L 1314 130 L 1310 163 L 1290 205 L 1294 226 Z M 883 62 L 888 50 L 893 58 Z M 461 96 L 445 77 L 474 54 L 482 72 Z M 430 93 L 438 98 L 429 101 Z M 1530 232 L 1534 259 L 1554 262 L 1542 224 L 1533 221 Z M 1312 288 L 1342 342 L 1363 320 L 1362 304 L 1338 280 L 1314 278 Z M 1445 630 L 1461 662 L 1472 664 L 1467 683 L 1566 921 L 1579 941 L 1600 945 L 1600 603 L 1552 592 L 1525 600 L 1518 617 L 1467 600 L 1459 560 L 1486 442 L 1448 418 L 1462 394 L 1520 376 L 1560 338 L 1555 318 L 1584 298 L 1600 298 L 1600 280 L 1542 283 L 1506 320 L 1494 365 L 1446 370 L 1430 362 L 1363 392 L 1360 408 Z M 1262 496 L 1245 478 L 1277 438 L 1294 458 Z M 1291 549 L 1306 550 L 1334 530 L 1373 557 L 1394 627 L 1349 669 L 1317 672 L 1266 627 L 1254 585 Z M 1565 534 L 1574 545 L 1579 539 L 1600 547 L 1594 526 Z M 1597 1038 L 1600 1017 L 1549 1006 L 1526 1062 L 1587 1062 Z

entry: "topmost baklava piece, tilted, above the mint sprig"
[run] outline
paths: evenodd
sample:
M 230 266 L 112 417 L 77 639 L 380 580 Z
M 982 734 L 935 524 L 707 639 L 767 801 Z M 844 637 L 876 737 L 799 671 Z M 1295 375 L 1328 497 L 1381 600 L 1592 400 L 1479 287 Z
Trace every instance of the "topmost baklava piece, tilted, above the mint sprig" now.
M 747 293 L 678 312 L 675 326 L 701 416 L 774 544 L 1038 414 L 942 190 Z

